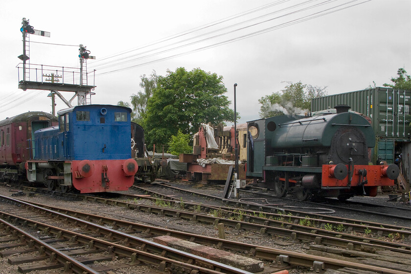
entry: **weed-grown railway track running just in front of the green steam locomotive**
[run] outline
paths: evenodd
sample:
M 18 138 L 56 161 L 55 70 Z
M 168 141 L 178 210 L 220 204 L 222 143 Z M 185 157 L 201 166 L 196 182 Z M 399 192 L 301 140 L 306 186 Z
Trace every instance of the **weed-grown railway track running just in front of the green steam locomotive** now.
M 136 187 L 139 188 L 139 187 Z M 141 189 L 144 193 L 148 190 Z M 44 190 L 45 191 L 45 190 Z M 45 191 L 48 193 L 48 191 Z M 411 228 L 392 226 L 389 224 L 381 223 L 362 223 L 359 220 L 343 219 L 337 217 L 330 217 L 326 215 L 313 215 L 307 216 L 298 213 L 296 215 L 279 213 L 265 213 L 262 211 L 253 211 L 248 209 L 236 209 L 232 207 L 223 206 L 207 206 L 206 204 L 190 203 L 184 201 L 181 198 L 165 196 L 161 193 L 151 192 L 156 198 L 147 197 L 145 195 L 133 195 L 133 194 L 121 194 L 121 196 L 128 197 L 128 201 L 123 199 L 105 199 L 98 196 L 89 195 L 75 195 L 75 194 L 63 194 L 56 193 L 58 195 L 68 195 L 74 197 L 80 197 L 83 200 L 94 201 L 103 204 L 110 204 L 115 206 L 123 206 L 126 208 L 137 208 L 144 212 L 155 213 L 165 216 L 177 216 L 186 220 L 196 220 L 207 224 L 216 224 L 218 220 L 222 220 L 226 226 L 236 229 L 246 229 L 251 231 L 265 231 L 271 235 L 281 235 L 283 237 L 292 237 L 298 240 L 315 240 L 316 237 L 338 237 L 345 240 L 352 240 L 356 242 L 387 242 L 391 243 L 392 240 L 402 239 L 406 243 L 411 241 Z M 153 203 L 159 202 L 161 195 L 169 199 L 168 201 L 158 203 L 160 206 L 150 205 L 137 205 L 133 202 L 133 199 L 150 199 Z M 167 207 L 167 203 L 179 204 L 179 209 L 183 204 L 185 207 L 192 206 L 193 210 L 178 210 Z M 184 208 L 183 208 L 184 209 Z M 261 210 L 261 209 L 260 209 Z M 201 214 L 200 212 L 205 212 Z M 299 212 L 300 213 L 300 212 Z M 304 236 L 304 233 L 311 233 L 312 236 Z M 364 236 L 359 236 L 361 233 Z M 354 234 L 354 235 L 353 235 Z M 381 240 L 383 239 L 383 240 Z M 398 245 L 398 243 L 388 244 L 392 247 L 408 249 L 408 244 L 404 246 Z M 344 246 L 344 244 L 342 244 Z M 346 246 L 346 244 L 345 244 Z

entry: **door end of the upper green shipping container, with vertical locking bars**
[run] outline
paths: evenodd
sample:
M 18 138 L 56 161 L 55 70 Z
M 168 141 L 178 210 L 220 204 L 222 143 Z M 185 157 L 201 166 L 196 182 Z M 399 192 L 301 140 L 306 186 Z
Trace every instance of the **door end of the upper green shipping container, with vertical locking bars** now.
M 381 137 L 410 137 L 410 91 L 387 89 L 377 94 L 378 125 Z

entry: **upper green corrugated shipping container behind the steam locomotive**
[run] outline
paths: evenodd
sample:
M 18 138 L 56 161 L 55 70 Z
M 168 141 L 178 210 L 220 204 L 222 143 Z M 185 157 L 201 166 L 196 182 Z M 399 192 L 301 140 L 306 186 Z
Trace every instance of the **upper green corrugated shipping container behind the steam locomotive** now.
M 349 105 L 352 111 L 370 117 L 376 137 L 411 137 L 411 91 L 378 87 L 329 95 L 313 99 L 311 111 L 326 110 L 336 105 Z

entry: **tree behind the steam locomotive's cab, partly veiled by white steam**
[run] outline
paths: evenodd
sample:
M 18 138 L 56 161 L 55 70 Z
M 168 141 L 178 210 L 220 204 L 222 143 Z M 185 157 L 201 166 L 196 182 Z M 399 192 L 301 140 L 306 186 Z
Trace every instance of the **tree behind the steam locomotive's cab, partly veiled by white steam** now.
M 282 93 L 277 91 L 258 99 L 261 104 L 261 118 L 309 112 L 311 99 L 327 95 L 327 87 L 306 85 L 301 81 L 286 83 L 287 86 L 281 90 Z

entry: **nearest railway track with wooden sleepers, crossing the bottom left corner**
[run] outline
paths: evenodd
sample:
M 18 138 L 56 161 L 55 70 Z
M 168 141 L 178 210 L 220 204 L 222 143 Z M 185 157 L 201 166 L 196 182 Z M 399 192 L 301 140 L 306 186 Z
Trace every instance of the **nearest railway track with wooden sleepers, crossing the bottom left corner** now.
M 30 212 L 37 212 L 35 216 L 36 219 L 39 218 L 39 215 L 45 216 L 43 217 L 43 219 L 52 218 L 53 220 L 62 220 L 62 222 L 67 223 L 69 226 L 74 226 L 82 229 L 81 233 L 73 232 L 64 228 L 51 226 L 46 223 L 35 221 L 33 220 L 34 217 L 24 218 L 1 211 L 0 216 L 3 224 L 2 228 L 4 231 L 10 231 L 12 235 L 12 237 L 10 237 L 8 240 L 13 241 L 20 239 L 19 243 L 8 245 L 6 247 L 27 245 L 28 250 L 30 251 L 32 249 L 39 250 L 38 254 L 33 257 L 17 259 L 14 261 L 10 260 L 9 262 L 11 264 L 34 262 L 49 257 L 48 261 L 46 261 L 45 263 L 25 267 L 19 266 L 19 271 L 22 273 L 27 273 L 35 270 L 43 270 L 45 268 L 52 267 L 60 268 L 62 266 L 64 266 L 64 268 L 68 270 L 72 265 L 77 266 L 75 273 L 98 273 L 96 270 L 92 270 L 91 268 L 85 266 L 84 263 L 113 259 L 114 257 L 125 257 L 129 259 L 127 263 L 128 265 L 125 266 L 124 264 L 121 264 L 109 266 L 108 269 L 125 268 L 129 266 L 136 266 L 141 263 L 146 263 L 158 267 L 161 272 L 168 270 L 171 273 L 187 273 L 188 271 L 188 273 L 208 274 L 250 274 L 250 272 L 248 271 L 240 270 L 233 266 L 228 266 L 226 264 L 212 261 L 201 256 L 163 246 L 153 241 L 145 240 L 143 238 L 131 235 L 129 233 L 125 233 L 113 228 L 107 228 L 105 226 L 95 224 L 86 220 L 81 220 L 74 216 L 69 216 L 68 214 L 46 209 L 44 207 L 36 206 L 13 198 L 4 196 L 1 196 L 0 198 L 3 201 L 8 201 L 9 204 L 12 203 L 12 205 L 14 206 L 23 207 L 24 209 L 29 208 Z M 76 214 L 74 213 L 74 215 Z M 53 235 L 53 241 L 65 242 L 65 244 L 63 244 L 64 248 L 66 248 L 66 246 L 86 246 L 87 248 L 80 251 L 81 254 L 94 253 L 94 251 L 96 250 L 104 253 L 100 254 L 99 256 L 94 256 L 92 259 L 85 259 L 83 260 L 83 263 L 80 263 L 73 258 L 69 258 L 67 254 L 64 254 L 64 252 L 58 251 L 57 249 L 52 248 L 44 242 L 42 243 L 41 241 L 36 241 L 37 244 L 33 244 L 33 237 L 30 237 L 30 240 L 27 242 L 26 239 L 28 239 L 27 237 L 29 233 L 26 233 L 21 229 L 17 229 L 14 225 L 11 225 L 11 223 L 13 223 L 14 225 L 18 224 L 23 227 L 34 228 L 36 230 L 42 230 L 44 235 Z M 4 248 L 4 246 L 2 248 Z M 62 249 L 61 245 L 60 249 Z M 79 254 L 79 252 L 77 252 L 76 254 Z M 5 253 L 2 253 L 2 255 L 4 256 Z M 50 266 L 51 264 L 53 266 Z

